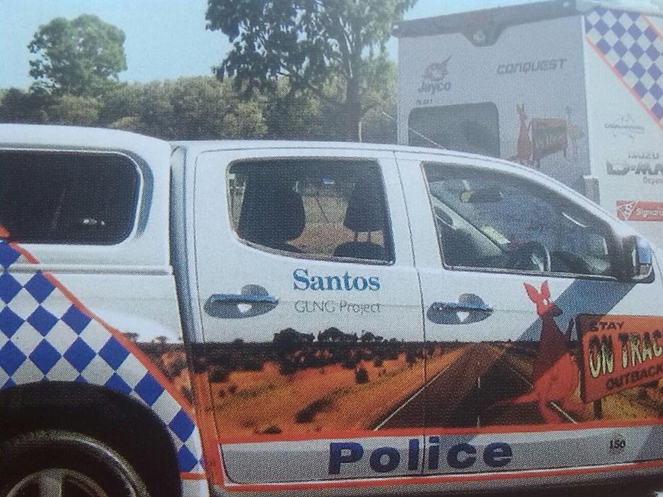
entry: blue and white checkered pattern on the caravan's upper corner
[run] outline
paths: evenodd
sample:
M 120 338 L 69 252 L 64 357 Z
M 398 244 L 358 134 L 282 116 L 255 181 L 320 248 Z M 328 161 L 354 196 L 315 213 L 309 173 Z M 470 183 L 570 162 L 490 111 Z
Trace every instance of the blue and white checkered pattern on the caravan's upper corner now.
M 644 15 L 596 8 L 585 34 L 659 123 L 663 121 L 663 39 Z

